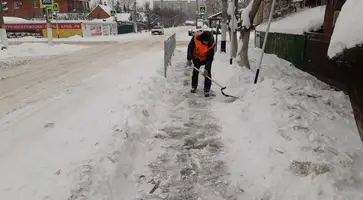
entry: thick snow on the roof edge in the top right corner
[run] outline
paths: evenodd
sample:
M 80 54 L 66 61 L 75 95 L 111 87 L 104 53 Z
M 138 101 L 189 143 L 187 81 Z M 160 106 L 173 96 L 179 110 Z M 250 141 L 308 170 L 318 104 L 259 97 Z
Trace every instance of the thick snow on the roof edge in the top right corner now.
M 347 0 L 336 21 L 328 56 L 337 56 L 344 49 L 363 44 L 362 0 Z

